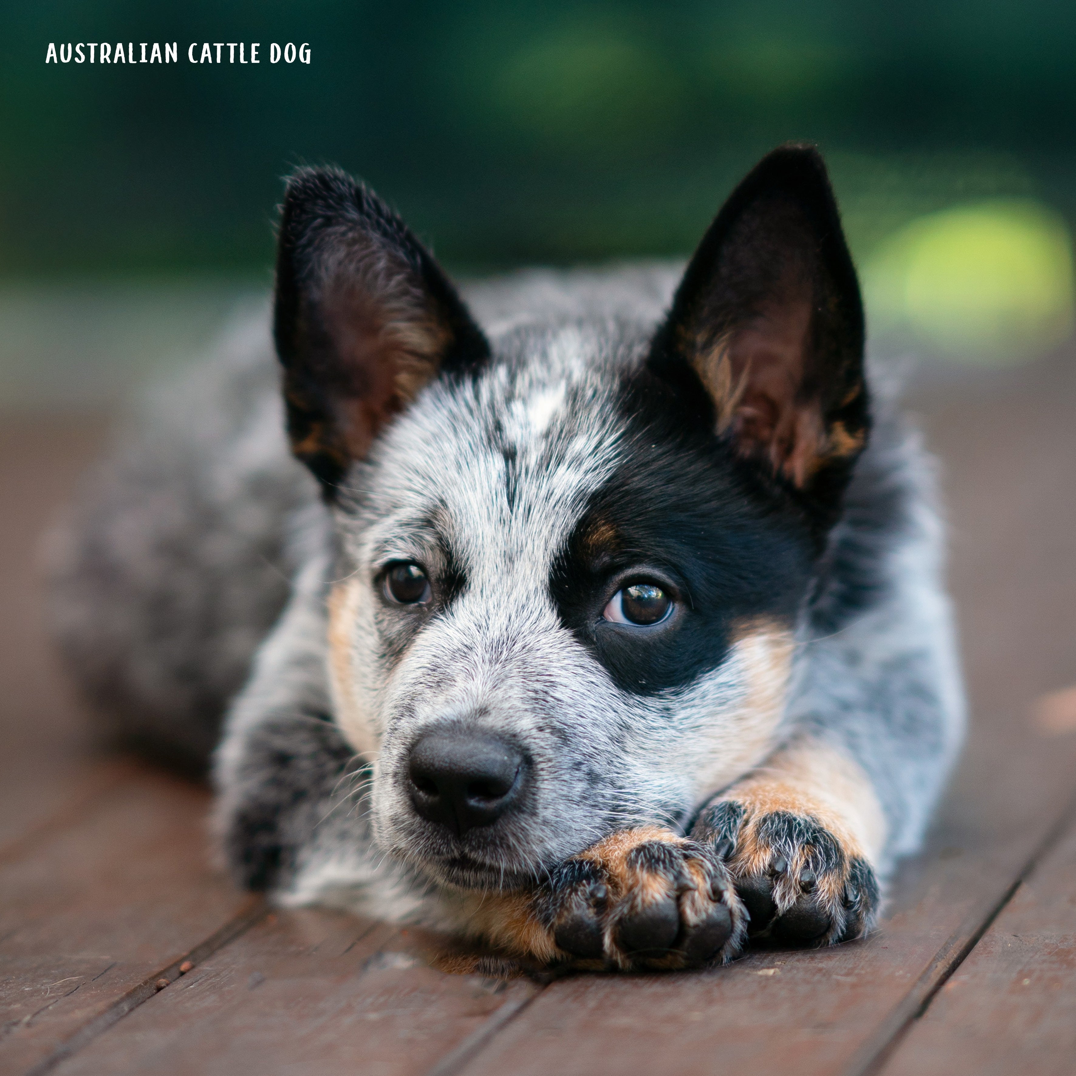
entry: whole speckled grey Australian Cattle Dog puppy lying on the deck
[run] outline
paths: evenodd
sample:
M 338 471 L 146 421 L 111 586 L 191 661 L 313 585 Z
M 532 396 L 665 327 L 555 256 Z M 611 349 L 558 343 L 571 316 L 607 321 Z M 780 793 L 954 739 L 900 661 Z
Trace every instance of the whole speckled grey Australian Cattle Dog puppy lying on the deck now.
M 672 293 L 662 268 L 530 273 L 465 305 L 365 187 L 292 179 L 275 343 L 321 500 L 279 405 L 247 400 L 270 398 L 259 352 L 171 406 L 167 452 L 115 464 L 57 554 L 91 692 L 196 752 L 180 730 L 208 742 L 224 691 L 192 694 L 200 655 L 230 646 L 214 683 L 236 679 L 283 600 L 229 619 L 222 595 L 256 589 L 252 551 L 285 551 L 291 595 L 215 761 L 244 884 L 592 968 L 870 929 L 962 702 L 930 467 L 872 408 L 819 155 L 767 156 Z M 170 522 L 139 523 L 128 506 L 170 482 Z M 136 584 L 139 557 L 159 570 Z M 186 649 L 147 611 L 178 579 L 200 595 Z M 99 655 L 168 632 L 153 675 Z

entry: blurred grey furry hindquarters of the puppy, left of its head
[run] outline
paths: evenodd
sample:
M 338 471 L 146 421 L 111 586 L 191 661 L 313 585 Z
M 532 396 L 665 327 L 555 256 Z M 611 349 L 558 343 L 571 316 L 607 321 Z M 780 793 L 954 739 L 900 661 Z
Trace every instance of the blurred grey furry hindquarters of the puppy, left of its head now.
M 268 311 L 237 320 L 134 404 L 46 542 L 52 628 L 93 712 L 182 769 L 204 770 L 321 512 L 278 381 Z

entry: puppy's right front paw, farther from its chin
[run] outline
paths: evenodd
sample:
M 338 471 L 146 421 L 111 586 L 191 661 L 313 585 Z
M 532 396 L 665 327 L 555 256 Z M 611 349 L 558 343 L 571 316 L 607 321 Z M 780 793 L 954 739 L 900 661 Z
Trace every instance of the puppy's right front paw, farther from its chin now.
M 820 815 L 797 797 L 781 805 L 771 792 L 746 794 L 710 804 L 692 830 L 727 864 L 751 937 L 823 946 L 874 925 L 874 870 L 844 827 Z

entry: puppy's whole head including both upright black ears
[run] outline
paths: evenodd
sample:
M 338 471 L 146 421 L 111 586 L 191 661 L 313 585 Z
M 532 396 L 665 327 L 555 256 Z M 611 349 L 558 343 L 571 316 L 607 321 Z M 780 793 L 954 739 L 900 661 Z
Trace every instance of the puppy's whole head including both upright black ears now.
M 376 761 L 386 850 L 520 884 L 681 824 L 764 756 L 868 425 L 812 150 L 745 180 L 656 329 L 483 334 L 372 194 L 300 172 L 275 316 L 293 448 L 337 521 L 336 716 Z

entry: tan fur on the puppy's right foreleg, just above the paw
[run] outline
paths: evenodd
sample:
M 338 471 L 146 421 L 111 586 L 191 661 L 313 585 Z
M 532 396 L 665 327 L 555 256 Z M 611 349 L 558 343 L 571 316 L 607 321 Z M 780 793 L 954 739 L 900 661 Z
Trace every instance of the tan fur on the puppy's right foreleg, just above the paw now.
M 886 816 L 870 779 L 848 755 L 817 740 L 783 748 L 722 798 L 741 803 L 749 812 L 810 816 L 849 855 L 870 863 L 878 862 L 886 844 Z M 749 873 L 766 866 L 751 862 L 750 848 L 742 854 Z

